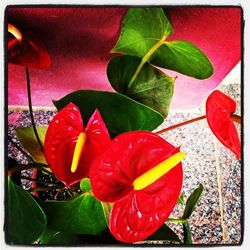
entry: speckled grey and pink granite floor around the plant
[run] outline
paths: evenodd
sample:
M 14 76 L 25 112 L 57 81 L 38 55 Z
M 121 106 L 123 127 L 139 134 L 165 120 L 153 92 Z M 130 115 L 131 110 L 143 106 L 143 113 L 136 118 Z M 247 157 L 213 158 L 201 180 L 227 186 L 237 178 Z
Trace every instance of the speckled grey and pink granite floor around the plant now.
M 240 112 L 240 86 L 237 83 L 223 85 L 222 91 L 229 93 L 238 103 L 237 113 Z M 47 125 L 52 119 L 53 111 L 35 111 L 38 124 Z M 204 114 L 204 108 L 192 112 L 170 112 L 167 120 L 160 128 L 189 120 Z M 28 111 L 9 110 L 8 133 L 16 141 L 14 128 L 16 126 L 30 126 Z M 157 129 L 158 130 L 158 129 Z M 240 132 L 240 127 L 238 126 Z M 186 153 L 184 167 L 184 197 L 202 183 L 204 192 L 198 207 L 189 219 L 194 243 L 222 244 L 222 221 L 224 222 L 224 242 L 237 244 L 241 240 L 241 164 L 236 157 L 223 147 L 210 131 L 206 120 L 187 125 L 162 134 L 162 137 L 175 146 L 180 146 Z M 18 161 L 27 159 L 15 148 L 8 144 L 8 153 Z M 220 173 L 216 171 L 216 165 Z M 218 169 L 217 168 L 217 169 Z M 219 177 L 218 177 L 219 174 Z M 223 211 L 220 210 L 218 179 L 221 183 Z M 177 206 L 171 217 L 178 217 L 182 211 Z M 177 224 L 169 224 L 177 233 L 181 232 Z

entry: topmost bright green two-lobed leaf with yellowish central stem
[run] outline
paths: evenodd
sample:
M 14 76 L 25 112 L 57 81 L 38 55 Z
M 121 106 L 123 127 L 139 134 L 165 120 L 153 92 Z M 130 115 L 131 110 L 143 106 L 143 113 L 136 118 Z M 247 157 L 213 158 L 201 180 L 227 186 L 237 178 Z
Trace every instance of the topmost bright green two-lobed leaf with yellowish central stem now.
M 213 74 L 207 56 L 185 41 L 166 41 L 173 32 L 160 8 L 132 8 L 126 13 L 121 35 L 112 52 L 138 56 L 152 64 L 205 79 Z

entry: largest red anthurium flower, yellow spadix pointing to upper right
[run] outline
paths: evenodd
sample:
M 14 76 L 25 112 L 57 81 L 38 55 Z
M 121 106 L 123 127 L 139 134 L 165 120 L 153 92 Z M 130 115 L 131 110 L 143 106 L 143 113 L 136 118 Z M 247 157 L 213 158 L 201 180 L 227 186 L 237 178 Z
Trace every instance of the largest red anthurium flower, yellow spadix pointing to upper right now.
M 117 136 L 90 168 L 96 198 L 113 202 L 109 228 L 122 242 L 146 239 L 169 217 L 182 187 L 184 154 L 151 132 Z

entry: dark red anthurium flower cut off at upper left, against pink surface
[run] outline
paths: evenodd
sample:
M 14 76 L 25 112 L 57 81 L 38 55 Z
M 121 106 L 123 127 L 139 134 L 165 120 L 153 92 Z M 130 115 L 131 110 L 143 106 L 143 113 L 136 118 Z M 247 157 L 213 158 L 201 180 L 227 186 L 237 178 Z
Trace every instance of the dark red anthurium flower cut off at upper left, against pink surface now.
M 50 56 L 38 42 L 24 39 L 12 24 L 8 24 L 8 32 L 13 36 L 8 41 L 8 62 L 36 69 L 50 66 Z

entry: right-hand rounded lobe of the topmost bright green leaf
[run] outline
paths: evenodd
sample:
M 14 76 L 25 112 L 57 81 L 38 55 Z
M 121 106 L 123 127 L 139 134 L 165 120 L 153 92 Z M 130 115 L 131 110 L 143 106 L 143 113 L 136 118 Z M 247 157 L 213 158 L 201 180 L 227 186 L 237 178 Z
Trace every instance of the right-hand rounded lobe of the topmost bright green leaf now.
M 213 65 L 207 56 L 186 41 L 165 42 L 151 56 L 150 62 L 197 79 L 206 79 L 213 74 Z

